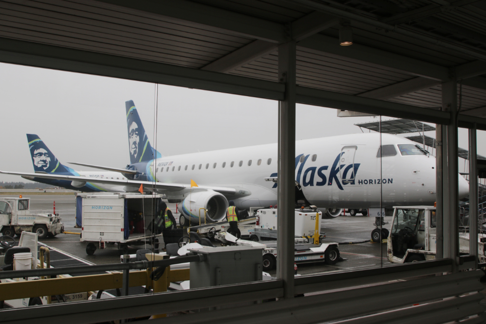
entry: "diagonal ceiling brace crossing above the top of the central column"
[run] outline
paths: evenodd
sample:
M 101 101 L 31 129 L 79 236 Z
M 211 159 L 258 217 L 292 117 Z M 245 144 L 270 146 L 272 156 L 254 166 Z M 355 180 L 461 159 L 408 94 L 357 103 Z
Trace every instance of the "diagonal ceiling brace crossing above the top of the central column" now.
M 339 24 L 339 18 L 314 11 L 290 26 L 292 39 L 299 41 L 326 28 Z M 243 65 L 270 54 L 277 49 L 277 44 L 256 40 L 242 48 L 227 54 L 201 68 L 201 70 L 228 73 Z

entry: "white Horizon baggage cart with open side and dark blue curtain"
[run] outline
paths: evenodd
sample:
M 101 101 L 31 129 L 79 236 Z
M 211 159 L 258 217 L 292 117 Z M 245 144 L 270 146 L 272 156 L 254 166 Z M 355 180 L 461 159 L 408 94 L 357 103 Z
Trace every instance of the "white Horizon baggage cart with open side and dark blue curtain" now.
M 127 254 L 128 245 L 145 248 L 146 244 L 154 244 L 158 248 L 162 234 L 152 235 L 152 225 L 160 195 L 105 192 L 79 196 L 82 199 L 81 242 L 89 242 L 88 255 L 94 254 L 97 248 L 118 249 L 122 254 Z

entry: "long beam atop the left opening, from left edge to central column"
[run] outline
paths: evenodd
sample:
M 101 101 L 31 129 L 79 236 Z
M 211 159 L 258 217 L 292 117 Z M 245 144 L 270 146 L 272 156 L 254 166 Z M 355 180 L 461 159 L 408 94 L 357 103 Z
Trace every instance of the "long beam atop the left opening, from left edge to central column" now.
M 0 38 L 0 62 L 283 100 L 285 85 L 183 66 Z

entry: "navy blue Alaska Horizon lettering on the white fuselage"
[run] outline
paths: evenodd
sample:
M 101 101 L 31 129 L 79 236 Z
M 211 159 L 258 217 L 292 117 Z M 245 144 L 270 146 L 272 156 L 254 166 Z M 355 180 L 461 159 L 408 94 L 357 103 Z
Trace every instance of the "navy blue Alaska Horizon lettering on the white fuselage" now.
M 317 166 L 311 166 L 305 169 L 304 171 L 304 165 L 305 162 L 307 162 L 307 159 L 309 158 L 310 154 L 308 155 L 297 155 L 296 157 L 296 170 L 297 170 L 297 177 L 296 181 L 302 186 L 302 187 L 307 187 L 307 186 L 332 186 L 333 183 L 337 185 L 337 187 L 340 190 L 344 190 L 343 186 L 346 185 L 355 185 L 356 184 L 356 174 L 358 172 L 359 166 L 361 163 L 354 163 L 354 164 L 340 164 L 338 165 L 341 156 L 343 155 L 343 152 L 339 153 L 334 162 L 332 163 L 332 166 L 329 170 L 329 173 L 327 173 L 327 170 L 329 169 L 328 165 L 323 165 L 321 167 Z M 304 156 L 304 161 L 300 162 L 301 157 Z M 299 165 L 300 162 L 300 165 Z M 354 166 L 354 167 L 353 167 Z M 302 173 L 303 171 L 303 173 Z M 324 172 L 326 171 L 326 172 Z M 324 174 L 325 173 L 325 174 Z M 277 173 L 272 173 L 270 177 L 276 177 Z M 350 179 L 350 180 L 342 180 L 341 179 Z M 352 180 L 351 180 L 352 179 Z M 317 182 L 316 182 L 317 180 Z M 393 183 L 393 178 L 391 179 L 364 179 L 364 180 L 357 180 L 358 185 L 380 185 L 380 184 L 392 184 Z M 273 184 L 272 188 L 277 188 L 277 183 Z

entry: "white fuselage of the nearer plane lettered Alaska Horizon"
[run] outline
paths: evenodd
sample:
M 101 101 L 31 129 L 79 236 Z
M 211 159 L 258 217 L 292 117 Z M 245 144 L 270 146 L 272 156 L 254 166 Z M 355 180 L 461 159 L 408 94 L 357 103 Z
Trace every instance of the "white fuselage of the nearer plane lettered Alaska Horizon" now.
M 296 181 L 307 201 L 318 207 L 433 205 L 435 158 L 402 155 L 399 144 L 415 145 L 405 138 L 381 134 L 381 145 L 393 145 L 397 154 L 378 158 L 377 133 L 297 141 Z M 190 183 L 192 179 L 198 185 L 249 191 L 244 196 L 227 196 L 239 208 L 277 203 L 276 184 L 264 179 L 276 176 L 277 144 L 164 157 L 152 163 L 151 172 L 164 183 Z M 468 184 L 459 176 L 459 197 L 467 193 Z M 170 199 L 170 192 L 167 196 Z

